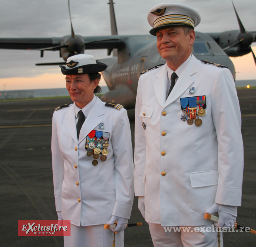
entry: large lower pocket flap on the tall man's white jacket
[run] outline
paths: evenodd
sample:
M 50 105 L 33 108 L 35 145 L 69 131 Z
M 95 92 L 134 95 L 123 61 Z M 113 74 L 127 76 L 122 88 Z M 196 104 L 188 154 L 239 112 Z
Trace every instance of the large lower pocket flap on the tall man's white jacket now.
M 218 170 L 191 172 L 189 176 L 192 188 L 218 184 Z

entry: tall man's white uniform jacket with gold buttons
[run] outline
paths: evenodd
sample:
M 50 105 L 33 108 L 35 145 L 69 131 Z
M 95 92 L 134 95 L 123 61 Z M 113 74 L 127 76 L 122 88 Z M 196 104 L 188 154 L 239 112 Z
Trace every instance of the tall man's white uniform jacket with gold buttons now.
M 214 202 L 241 204 L 243 142 L 235 83 L 228 69 L 192 55 L 166 100 L 166 66 L 146 72 L 138 82 L 135 196 L 145 195 L 147 222 L 207 225 L 204 212 Z M 192 96 L 206 96 L 201 126 L 181 120 L 180 98 Z

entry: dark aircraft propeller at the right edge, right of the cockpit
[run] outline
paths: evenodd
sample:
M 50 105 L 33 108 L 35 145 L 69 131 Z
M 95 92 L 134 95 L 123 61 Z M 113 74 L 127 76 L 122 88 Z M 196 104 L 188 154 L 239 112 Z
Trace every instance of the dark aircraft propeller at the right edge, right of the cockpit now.
M 233 4 L 233 1 L 232 1 L 232 4 Z M 249 49 L 252 52 L 252 56 L 253 56 L 253 59 L 254 59 L 255 65 L 256 65 L 256 57 L 255 57 L 255 54 L 253 53 L 252 48 L 250 46 L 252 42 L 256 41 L 256 35 L 252 35 L 251 33 L 248 33 L 245 30 L 245 28 L 244 28 L 244 26 L 243 26 L 243 24 L 242 24 L 242 22 L 241 22 L 241 20 L 240 20 L 240 18 L 238 16 L 237 12 L 236 12 L 236 8 L 235 8 L 234 4 L 233 4 L 233 8 L 234 8 L 235 13 L 236 13 L 236 18 L 237 18 L 237 21 L 238 21 L 238 24 L 239 24 L 240 33 L 237 36 L 238 41 L 236 41 L 235 43 L 233 43 L 230 46 L 225 47 L 223 49 L 223 51 L 225 51 L 225 50 L 227 50 L 227 49 L 229 49 L 229 48 L 239 44 L 241 49 Z

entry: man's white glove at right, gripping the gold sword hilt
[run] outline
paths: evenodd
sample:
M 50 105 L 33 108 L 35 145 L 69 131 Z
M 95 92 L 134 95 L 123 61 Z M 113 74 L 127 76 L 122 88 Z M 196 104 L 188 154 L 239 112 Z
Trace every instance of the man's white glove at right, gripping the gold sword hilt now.
M 219 220 L 215 222 L 216 227 L 233 227 L 236 222 L 237 206 L 228 206 L 214 203 L 205 211 L 206 214 L 218 212 Z

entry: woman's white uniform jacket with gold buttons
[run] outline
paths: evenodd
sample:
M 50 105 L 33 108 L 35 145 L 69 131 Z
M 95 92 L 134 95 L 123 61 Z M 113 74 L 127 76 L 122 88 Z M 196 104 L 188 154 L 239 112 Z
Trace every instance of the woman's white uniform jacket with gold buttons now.
M 99 124 L 104 129 L 99 129 Z M 92 130 L 110 133 L 107 160 L 92 165 L 85 149 Z M 130 218 L 134 197 L 131 131 L 127 111 L 96 99 L 76 133 L 74 104 L 53 114 L 52 170 L 56 211 L 77 226 L 101 225 L 112 214 Z M 78 182 L 78 183 L 77 183 Z M 78 184 L 78 185 L 77 185 Z M 79 199 L 81 202 L 79 202 Z

